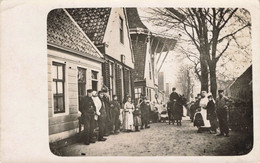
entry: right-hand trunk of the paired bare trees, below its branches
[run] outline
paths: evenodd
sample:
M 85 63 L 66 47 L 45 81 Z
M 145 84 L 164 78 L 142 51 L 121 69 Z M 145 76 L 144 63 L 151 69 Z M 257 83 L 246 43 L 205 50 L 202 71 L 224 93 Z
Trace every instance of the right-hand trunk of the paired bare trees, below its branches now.
M 217 75 L 216 75 L 216 63 L 209 64 L 210 70 L 210 92 L 214 99 L 217 97 Z

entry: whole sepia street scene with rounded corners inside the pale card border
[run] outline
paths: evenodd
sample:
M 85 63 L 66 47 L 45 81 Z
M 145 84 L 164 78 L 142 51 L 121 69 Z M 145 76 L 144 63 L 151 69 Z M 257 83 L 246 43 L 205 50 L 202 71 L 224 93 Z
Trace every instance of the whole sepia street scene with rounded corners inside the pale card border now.
M 227 7 L 49 11 L 45 118 L 51 153 L 250 153 L 251 16 Z

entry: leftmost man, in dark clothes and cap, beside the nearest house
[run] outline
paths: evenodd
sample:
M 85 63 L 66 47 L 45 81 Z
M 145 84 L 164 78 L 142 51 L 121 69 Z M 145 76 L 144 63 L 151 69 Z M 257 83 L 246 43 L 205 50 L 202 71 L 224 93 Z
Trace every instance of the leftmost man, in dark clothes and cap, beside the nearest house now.
M 84 144 L 95 143 L 93 139 L 95 104 L 92 99 L 92 90 L 87 90 L 87 96 L 82 99 L 82 120 L 84 124 Z

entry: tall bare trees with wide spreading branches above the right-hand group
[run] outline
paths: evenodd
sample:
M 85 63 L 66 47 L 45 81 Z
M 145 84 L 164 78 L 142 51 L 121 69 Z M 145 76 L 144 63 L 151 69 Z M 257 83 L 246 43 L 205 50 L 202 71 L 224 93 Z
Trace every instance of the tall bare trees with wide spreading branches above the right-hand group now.
M 251 26 L 249 12 L 238 8 L 151 8 L 150 14 L 153 16 L 147 20 L 154 25 L 189 38 L 199 53 L 201 89 L 208 91 L 210 82 L 216 97 L 217 62 L 236 43 L 237 34 Z

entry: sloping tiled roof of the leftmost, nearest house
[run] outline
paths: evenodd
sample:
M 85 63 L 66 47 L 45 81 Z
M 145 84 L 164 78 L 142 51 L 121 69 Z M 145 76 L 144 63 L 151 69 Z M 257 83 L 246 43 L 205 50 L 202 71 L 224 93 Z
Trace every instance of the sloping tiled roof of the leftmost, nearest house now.
M 102 57 L 102 54 L 63 9 L 55 9 L 48 14 L 47 42 L 81 52 L 80 54 L 84 56 Z

